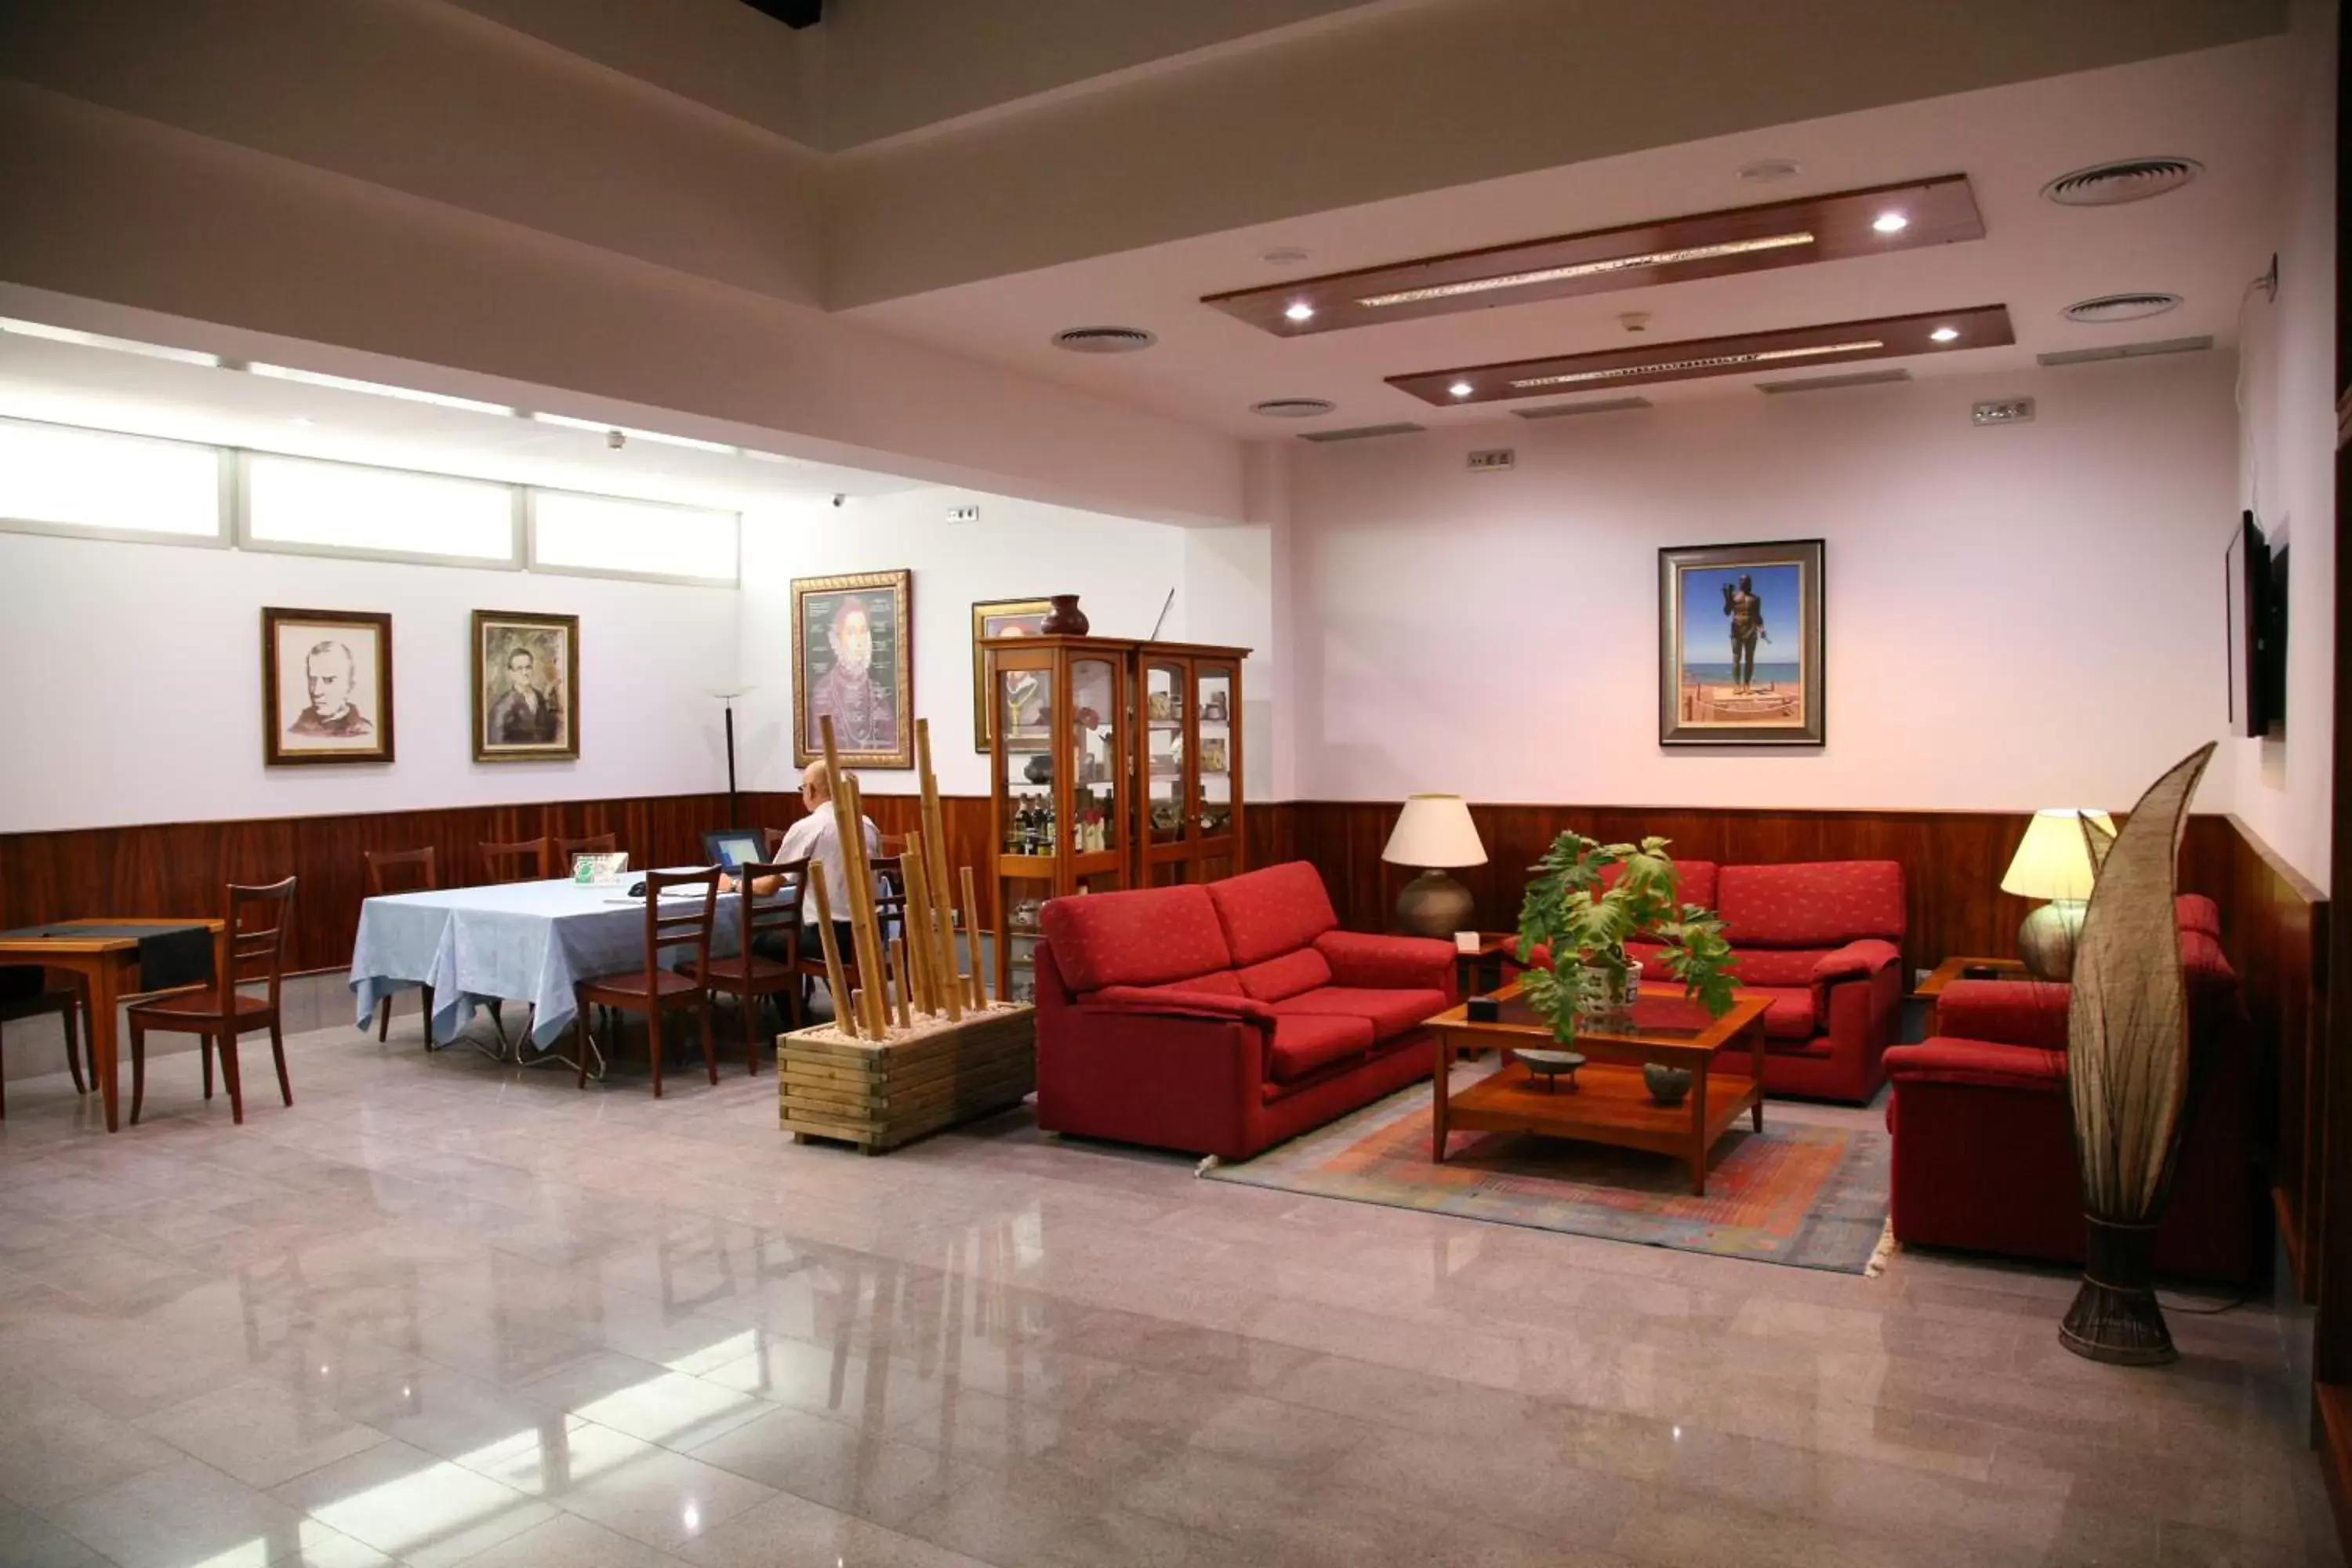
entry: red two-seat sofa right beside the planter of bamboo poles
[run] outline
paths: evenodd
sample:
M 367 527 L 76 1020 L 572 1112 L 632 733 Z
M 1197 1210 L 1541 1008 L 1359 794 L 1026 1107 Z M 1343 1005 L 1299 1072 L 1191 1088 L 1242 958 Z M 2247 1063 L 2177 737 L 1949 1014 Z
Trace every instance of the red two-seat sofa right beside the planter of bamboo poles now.
M 1454 947 L 1341 931 L 1305 860 L 1054 898 L 1040 922 L 1037 1126 L 1244 1159 L 1435 1058 Z

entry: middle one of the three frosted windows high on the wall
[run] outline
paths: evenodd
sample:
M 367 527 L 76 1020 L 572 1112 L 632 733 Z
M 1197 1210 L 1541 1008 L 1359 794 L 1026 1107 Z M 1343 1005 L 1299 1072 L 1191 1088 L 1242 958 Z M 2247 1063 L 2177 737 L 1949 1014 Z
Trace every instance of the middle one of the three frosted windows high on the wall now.
M 254 454 L 245 543 L 510 564 L 515 491 L 485 480 Z

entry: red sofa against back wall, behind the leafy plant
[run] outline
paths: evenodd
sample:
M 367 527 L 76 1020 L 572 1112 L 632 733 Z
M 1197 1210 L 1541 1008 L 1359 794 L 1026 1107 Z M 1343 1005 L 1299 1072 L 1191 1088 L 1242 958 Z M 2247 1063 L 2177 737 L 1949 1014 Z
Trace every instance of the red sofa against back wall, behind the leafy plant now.
M 1764 1091 L 1867 1105 L 1886 1081 L 1882 1053 L 1903 1034 L 1903 867 L 1896 860 L 1675 860 L 1675 867 L 1682 903 L 1724 917 L 1740 990 L 1771 997 Z M 1642 961 L 1644 980 L 1672 980 L 1656 943 L 1630 940 L 1625 952 Z M 1550 959 L 1541 950 L 1531 957 Z

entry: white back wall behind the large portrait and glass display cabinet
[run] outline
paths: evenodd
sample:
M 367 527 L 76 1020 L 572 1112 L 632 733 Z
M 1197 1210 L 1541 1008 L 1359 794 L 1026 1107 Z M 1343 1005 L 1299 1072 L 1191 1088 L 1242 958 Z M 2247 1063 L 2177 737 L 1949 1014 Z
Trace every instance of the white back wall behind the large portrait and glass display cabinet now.
M 976 524 L 948 510 L 978 505 Z M 915 574 L 915 712 L 931 722 L 943 795 L 988 795 L 988 757 L 971 748 L 971 604 L 1080 595 L 1094 632 L 1145 637 L 1176 588 L 1164 637 L 1197 635 L 1188 604 L 1188 529 L 960 489 L 762 508 L 743 515 L 743 679 L 736 717 L 746 790 L 795 790 L 793 578 L 840 571 Z M 868 795 L 913 795 L 913 771 L 858 769 Z

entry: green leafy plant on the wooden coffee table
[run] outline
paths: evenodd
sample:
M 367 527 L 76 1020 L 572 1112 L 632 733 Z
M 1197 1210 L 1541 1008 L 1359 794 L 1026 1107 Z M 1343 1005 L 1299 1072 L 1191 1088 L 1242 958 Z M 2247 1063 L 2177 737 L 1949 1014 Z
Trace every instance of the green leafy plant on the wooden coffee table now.
M 1602 886 L 1616 865 L 1613 886 Z M 1724 940 L 1724 917 L 1696 903 L 1679 903 L 1682 872 L 1665 853 L 1665 839 L 1639 844 L 1599 844 L 1581 832 L 1564 832 L 1541 860 L 1526 867 L 1526 898 L 1519 903 L 1519 961 L 1536 945 L 1552 950 L 1552 969 L 1529 969 L 1519 994 L 1538 1018 L 1552 1025 L 1562 1046 L 1576 1044 L 1578 966 L 1606 969 L 1623 980 L 1632 971 L 1625 957 L 1628 938 L 1658 943 L 1665 973 L 1682 980 L 1682 992 L 1715 1018 L 1731 1011 L 1731 943 Z

